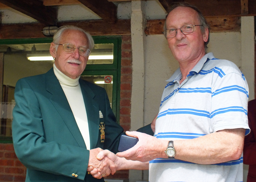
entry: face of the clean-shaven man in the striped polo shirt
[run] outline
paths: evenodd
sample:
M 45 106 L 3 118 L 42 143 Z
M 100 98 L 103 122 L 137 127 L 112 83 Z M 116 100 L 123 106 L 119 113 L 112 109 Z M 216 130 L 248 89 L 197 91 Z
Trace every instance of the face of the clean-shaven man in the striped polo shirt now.
M 177 7 L 173 9 L 166 18 L 166 28 L 177 29 L 184 25 L 200 25 L 197 12 L 189 7 Z M 208 30 L 201 32 L 200 26 L 195 26 L 195 30 L 184 35 L 180 29 L 173 38 L 167 38 L 169 48 L 178 62 L 191 62 L 200 60 L 204 54 L 204 42 L 208 39 Z

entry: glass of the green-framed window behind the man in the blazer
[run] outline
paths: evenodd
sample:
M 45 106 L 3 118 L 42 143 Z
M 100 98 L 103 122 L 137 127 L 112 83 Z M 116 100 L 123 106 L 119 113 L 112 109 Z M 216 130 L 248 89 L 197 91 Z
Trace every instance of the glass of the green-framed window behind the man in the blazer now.
M 87 64 L 113 64 L 113 48 L 113 43 L 95 44 Z M 49 49 L 50 43 L 0 45 L 0 52 L 4 52 L 3 95 L 0 104 L 0 136 L 11 137 L 12 110 L 15 106 L 14 89 L 16 82 L 27 76 L 44 74 L 49 71 L 54 63 Z M 41 56 L 46 57 L 43 60 L 33 60 L 34 57 Z M 48 59 L 47 57 L 52 60 L 46 60 Z M 92 83 L 102 81 L 103 83 L 97 82 L 95 84 L 105 88 L 110 105 L 112 106 L 113 84 L 104 83 L 104 75 L 82 76 L 81 78 Z

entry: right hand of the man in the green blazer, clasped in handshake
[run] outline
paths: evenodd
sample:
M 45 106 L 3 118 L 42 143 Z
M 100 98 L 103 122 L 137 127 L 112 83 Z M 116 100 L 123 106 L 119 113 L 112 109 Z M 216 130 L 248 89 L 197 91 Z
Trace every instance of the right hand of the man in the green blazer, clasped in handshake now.
M 91 149 L 90 150 L 90 157 L 88 162 L 87 170 L 90 171 L 91 166 L 93 167 L 93 171 L 91 174 L 94 178 L 101 179 L 102 177 L 108 176 L 112 171 L 111 169 L 115 169 L 116 165 L 113 161 L 111 161 L 108 157 L 103 157 L 100 160 L 97 159 L 97 155 L 99 152 L 102 151 L 101 148 Z M 116 171 L 114 171 L 116 172 Z

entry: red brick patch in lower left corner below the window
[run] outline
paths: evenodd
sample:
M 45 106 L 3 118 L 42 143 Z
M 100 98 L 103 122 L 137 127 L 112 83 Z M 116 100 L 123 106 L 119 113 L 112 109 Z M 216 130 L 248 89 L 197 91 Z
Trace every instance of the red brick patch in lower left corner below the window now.
M 12 144 L 0 143 L 0 181 L 25 181 L 26 167 L 16 157 Z

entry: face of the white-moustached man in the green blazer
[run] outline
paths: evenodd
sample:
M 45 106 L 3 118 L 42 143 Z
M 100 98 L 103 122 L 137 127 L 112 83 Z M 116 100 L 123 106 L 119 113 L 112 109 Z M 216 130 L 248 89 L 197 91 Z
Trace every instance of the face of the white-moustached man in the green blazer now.
M 63 32 L 59 44 L 73 44 L 75 47 L 88 47 L 88 40 L 85 34 L 78 30 L 67 30 Z M 86 67 L 88 56 L 80 56 L 79 50 L 75 49 L 72 53 L 63 50 L 63 46 L 59 45 L 57 51 L 56 44 L 52 43 L 50 53 L 55 58 L 56 67 L 68 77 L 75 79 L 82 74 Z

